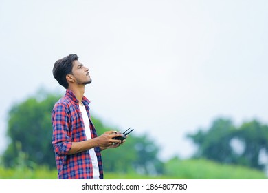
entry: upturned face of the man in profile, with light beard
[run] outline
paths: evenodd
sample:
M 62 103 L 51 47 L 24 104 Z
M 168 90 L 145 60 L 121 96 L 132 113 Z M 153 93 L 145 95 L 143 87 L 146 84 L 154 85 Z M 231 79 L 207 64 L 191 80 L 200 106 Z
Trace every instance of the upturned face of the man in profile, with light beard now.
M 82 65 L 80 61 L 74 61 L 72 72 L 78 85 L 86 85 L 91 83 L 92 80 L 89 76 L 89 68 Z

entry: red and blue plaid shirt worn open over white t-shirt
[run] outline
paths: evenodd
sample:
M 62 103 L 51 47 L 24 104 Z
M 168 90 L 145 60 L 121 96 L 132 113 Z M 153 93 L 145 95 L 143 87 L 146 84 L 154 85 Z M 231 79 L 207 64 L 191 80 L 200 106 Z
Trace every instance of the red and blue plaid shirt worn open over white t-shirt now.
M 89 116 L 91 138 L 93 139 L 97 137 L 97 133 L 90 119 L 90 101 L 83 96 L 82 103 L 85 105 Z M 65 96 L 54 105 L 52 125 L 52 144 L 56 156 L 58 179 L 93 179 L 93 167 L 89 151 L 68 155 L 72 142 L 87 140 L 85 129 L 89 129 L 84 128 L 82 114 L 79 110 L 79 101 L 71 90 L 67 89 Z M 96 147 L 94 150 L 98 159 L 100 179 L 103 179 L 100 148 Z

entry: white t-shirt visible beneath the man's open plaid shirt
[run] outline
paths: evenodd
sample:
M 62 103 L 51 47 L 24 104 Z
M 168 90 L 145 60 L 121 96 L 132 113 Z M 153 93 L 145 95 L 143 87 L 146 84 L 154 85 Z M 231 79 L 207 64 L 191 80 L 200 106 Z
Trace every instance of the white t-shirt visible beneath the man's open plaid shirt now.
M 91 132 L 90 132 L 90 127 L 89 127 L 89 116 L 87 116 L 87 111 L 84 105 L 80 105 L 80 112 L 82 113 L 82 119 L 84 121 L 85 125 L 85 133 L 87 136 L 87 139 L 91 139 Z M 91 162 L 93 166 L 93 179 L 100 179 L 100 172 L 99 172 L 99 166 L 98 166 L 98 159 L 96 156 L 96 152 L 94 151 L 94 148 L 91 148 L 89 150 L 89 154 L 91 157 Z

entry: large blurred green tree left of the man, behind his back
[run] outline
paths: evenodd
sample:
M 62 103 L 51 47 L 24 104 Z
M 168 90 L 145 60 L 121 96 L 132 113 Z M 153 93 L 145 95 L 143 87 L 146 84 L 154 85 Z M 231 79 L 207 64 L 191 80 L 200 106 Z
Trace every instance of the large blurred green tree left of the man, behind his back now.
M 51 111 L 60 96 L 38 92 L 36 96 L 12 106 L 8 113 L 8 136 L 10 144 L 3 154 L 6 166 L 19 163 L 23 152 L 27 165 L 55 167 L 52 147 Z

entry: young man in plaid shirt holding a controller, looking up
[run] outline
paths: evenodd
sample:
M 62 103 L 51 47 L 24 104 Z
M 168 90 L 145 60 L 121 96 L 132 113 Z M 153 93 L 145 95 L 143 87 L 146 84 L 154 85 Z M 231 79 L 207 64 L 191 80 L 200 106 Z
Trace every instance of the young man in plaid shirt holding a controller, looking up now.
M 103 179 L 100 151 L 118 148 L 124 141 L 116 131 L 97 136 L 90 119 L 85 85 L 91 83 L 89 68 L 70 54 L 55 62 L 54 78 L 66 88 L 52 110 L 52 144 L 56 156 L 58 179 Z

